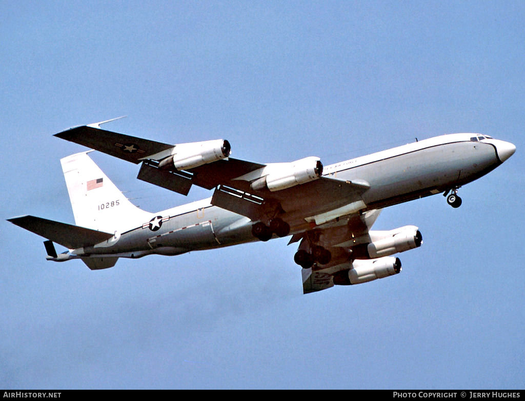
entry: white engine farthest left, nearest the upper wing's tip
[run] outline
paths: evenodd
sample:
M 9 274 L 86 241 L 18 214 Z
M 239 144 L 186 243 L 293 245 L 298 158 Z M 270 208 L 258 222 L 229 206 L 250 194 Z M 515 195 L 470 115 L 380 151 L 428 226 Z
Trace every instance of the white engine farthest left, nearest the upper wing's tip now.
M 229 142 L 223 139 L 214 141 L 181 143 L 173 147 L 173 154 L 159 163 L 159 168 L 169 170 L 190 170 L 203 164 L 216 162 L 228 157 L 232 151 Z

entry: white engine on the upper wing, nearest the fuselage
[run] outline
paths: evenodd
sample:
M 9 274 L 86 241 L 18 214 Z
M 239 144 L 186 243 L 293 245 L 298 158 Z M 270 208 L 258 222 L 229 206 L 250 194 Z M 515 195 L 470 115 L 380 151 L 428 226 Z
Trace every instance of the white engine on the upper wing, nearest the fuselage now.
M 269 173 L 251 183 L 251 188 L 256 191 L 267 187 L 270 191 L 304 184 L 317 180 L 323 173 L 323 164 L 318 157 L 305 157 L 290 163 L 268 165 Z

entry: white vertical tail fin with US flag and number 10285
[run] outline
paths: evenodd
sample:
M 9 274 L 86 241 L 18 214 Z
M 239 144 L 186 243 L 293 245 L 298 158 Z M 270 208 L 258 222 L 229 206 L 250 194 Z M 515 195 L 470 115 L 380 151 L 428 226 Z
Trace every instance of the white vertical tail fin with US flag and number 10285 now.
M 60 160 L 75 223 L 114 233 L 136 224 L 136 220 L 149 220 L 150 213 L 133 205 L 91 160 L 88 152 Z

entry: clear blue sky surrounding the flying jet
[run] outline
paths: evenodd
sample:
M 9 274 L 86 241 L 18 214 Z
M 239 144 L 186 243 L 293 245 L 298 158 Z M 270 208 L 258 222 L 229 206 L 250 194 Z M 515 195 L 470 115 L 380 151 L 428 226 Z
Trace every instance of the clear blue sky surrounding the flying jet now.
M 395 277 L 302 295 L 287 239 L 121 259 L 45 260 L 0 229 L 0 388 L 523 388 L 525 3 L 0 4 L 4 218 L 74 223 L 54 138 L 111 130 L 225 138 L 235 157 L 325 165 L 450 132 L 516 144 L 489 175 L 383 211 L 421 248 Z M 154 212 L 188 197 L 93 158 Z

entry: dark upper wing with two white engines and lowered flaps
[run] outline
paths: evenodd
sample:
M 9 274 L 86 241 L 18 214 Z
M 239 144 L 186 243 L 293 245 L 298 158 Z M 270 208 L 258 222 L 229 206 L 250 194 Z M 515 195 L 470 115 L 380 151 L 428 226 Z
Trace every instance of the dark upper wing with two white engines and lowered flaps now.
M 224 140 L 170 145 L 102 130 L 99 125 L 83 125 L 55 136 L 142 162 L 140 180 L 174 192 L 186 195 L 192 185 L 215 188 L 213 205 L 254 221 L 286 213 L 291 224 L 319 225 L 365 207 L 361 194 L 370 185 L 322 176 L 316 157 L 254 163 L 228 157 L 230 147 Z

